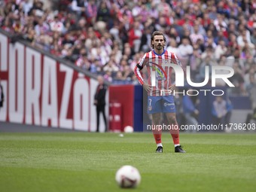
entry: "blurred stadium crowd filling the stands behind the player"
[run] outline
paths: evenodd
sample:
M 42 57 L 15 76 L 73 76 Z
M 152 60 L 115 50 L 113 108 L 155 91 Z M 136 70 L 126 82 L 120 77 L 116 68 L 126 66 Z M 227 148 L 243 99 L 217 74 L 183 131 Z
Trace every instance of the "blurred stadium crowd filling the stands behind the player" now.
M 50 9 L 40 0 L 0 2 L 6 32 L 112 83 L 138 83 L 134 66 L 160 30 L 194 82 L 220 65 L 235 71 L 233 94 L 256 86 L 256 0 L 62 0 Z

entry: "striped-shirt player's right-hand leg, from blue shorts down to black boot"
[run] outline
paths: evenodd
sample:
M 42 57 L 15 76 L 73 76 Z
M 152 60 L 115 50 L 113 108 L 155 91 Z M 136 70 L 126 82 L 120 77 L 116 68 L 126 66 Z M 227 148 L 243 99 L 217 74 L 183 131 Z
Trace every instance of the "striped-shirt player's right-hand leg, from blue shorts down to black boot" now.
M 163 112 L 166 114 L 166 119 L 169 123 L 172 141 L 175 147 L 175 152 L 184 153 L 179 143 L 179 127 L 176 120 L 175 104 L 173 96 L 163 96 Z

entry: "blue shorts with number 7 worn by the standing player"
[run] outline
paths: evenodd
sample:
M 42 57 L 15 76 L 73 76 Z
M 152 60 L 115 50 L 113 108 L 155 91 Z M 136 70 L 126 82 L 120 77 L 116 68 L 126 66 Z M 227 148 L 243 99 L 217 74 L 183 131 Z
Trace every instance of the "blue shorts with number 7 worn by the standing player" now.
M 148 114 L 175 113 L 173 96 L 148 96 Z

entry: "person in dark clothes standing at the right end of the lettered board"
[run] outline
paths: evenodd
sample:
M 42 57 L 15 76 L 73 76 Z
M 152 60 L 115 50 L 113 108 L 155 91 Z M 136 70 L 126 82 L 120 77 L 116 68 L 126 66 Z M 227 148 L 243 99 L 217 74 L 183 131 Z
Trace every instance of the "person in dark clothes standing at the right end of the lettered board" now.
M 104 79 L 101 75 L 98 76 L 99 85 L 96 89 L 94 95 L 94 105 L 96 105 L 96 114 L 97 114 L 97 130 L 99 132 L 99 115 L 102 113 L 104 123 L 105 123 L 105 132 L 107 131 L 107 119 L 105 117 L 105 94 L 107 91 L 107 86 L 104 84 Z

